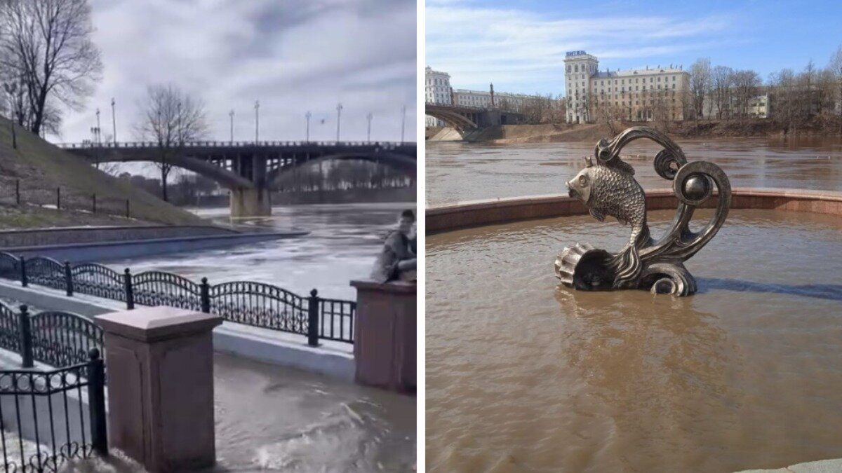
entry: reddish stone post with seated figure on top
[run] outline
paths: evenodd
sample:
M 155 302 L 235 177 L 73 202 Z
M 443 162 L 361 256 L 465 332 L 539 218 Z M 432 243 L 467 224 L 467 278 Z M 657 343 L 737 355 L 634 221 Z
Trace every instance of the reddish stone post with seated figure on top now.
M 357 288 L 356 381 L 392 391 L 415 392 L 417 284 L 357 280 L 351 285 Z

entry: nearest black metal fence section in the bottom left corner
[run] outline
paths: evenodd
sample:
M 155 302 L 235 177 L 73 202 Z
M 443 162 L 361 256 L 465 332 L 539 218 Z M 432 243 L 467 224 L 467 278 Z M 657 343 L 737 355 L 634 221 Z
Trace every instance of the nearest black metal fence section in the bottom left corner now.
M 67 460 L 108 456 L 104 364 L 92 349 L 51 371 L 0 370 L 0 442 L 6 471 L 58 471 Z

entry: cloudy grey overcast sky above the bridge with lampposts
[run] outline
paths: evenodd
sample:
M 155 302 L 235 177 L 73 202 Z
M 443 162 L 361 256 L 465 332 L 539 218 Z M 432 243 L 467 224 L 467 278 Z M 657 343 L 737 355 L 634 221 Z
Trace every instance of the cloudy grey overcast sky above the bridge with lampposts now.
M 95 110 L 103 136 L 136 139 L 147 86 L 168 83 L 205 101 L 213 138 L 254 139 L 260 101 L 261 140 L 415 141 L 416 6 L 414 0 L 92 0 L 93 40 L 103 78 L 86 109 L 68 112 L 61 136 L 91 137 Z M 324 124 L 322 125 L 322 120 Z

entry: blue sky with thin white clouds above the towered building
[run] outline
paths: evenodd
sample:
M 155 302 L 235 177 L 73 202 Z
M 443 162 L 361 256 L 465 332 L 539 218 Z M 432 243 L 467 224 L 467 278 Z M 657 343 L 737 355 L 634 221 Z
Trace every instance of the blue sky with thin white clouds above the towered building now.
M 818 67 L 842 45 L 842 0 L 427 0 L 426 63 L 454 88 L 562 93 L 565 51 L 600 70 L 683 65 L 770 72 Z

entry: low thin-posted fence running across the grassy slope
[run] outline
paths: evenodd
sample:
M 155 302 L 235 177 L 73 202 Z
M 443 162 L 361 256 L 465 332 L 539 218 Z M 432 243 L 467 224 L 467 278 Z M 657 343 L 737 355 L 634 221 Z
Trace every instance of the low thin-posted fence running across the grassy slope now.
M 56 209 L 82 210 L 93 214 L 131 216 L 131 201 L 95 193 L 83 194 L 75 189 L 27 188 L 20 179 L 0 178 L 0 203 L 5 205 L 37 205 Z

